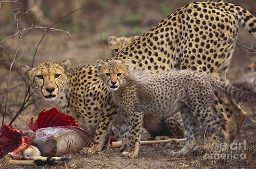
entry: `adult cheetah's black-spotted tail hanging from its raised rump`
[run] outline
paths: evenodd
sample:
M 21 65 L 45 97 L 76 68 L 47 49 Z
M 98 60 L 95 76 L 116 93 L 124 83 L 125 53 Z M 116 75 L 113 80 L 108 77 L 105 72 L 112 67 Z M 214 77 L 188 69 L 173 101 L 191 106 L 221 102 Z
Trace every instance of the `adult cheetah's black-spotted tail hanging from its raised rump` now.
M 251 12 L 242 8 L 238 4 L 233 4 L 230 2 L 215 2 L 216 6 L 224 9 L 226 12 L 231 13 L 235 19 L 237 19 L 245 29 L 252 34 L 254 39 L 256 39 L 256 18 Z

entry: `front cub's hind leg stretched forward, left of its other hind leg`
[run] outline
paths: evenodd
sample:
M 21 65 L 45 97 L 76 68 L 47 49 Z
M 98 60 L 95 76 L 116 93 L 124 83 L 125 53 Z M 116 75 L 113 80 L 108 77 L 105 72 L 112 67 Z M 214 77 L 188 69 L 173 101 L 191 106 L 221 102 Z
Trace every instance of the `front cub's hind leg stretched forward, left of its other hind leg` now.
M 183 148 L 178 151 L 174 152 L 172 151 L 170 155 L 172 157 L 184 157 L 190 152 L 193 151 L 194 147 L 196 146 L 196 137 L 198 135 L 198 123 L 196 118 L 192 115 L 191 111 L 187 108 L 181 111 L 181 116 L 184 121 L 185 130 L 187 132 L 187 141 Z

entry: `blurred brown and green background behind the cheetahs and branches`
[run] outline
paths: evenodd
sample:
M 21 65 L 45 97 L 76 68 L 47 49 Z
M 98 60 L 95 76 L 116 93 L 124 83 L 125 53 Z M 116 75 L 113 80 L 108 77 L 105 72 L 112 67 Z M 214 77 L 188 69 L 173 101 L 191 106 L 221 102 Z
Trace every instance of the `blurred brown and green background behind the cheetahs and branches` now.
M 0 3 L 0 41 L 17 32 L 17 23 L 14 14 L 17 9 L 23 12 L 18 15 L 19 30 L 27 29 L 38 23 L 42 26 L 51 26 L 59 18 L 70 11 L 80 8 L 90 1 L 87 0 L 18 0 L 18 3 L 2 2 Z M 39 45 L 36 54 L 35 65 L 43 61 L 59 62 L 63 58 L 68 58 L 72 66 L 92 64 L 97 59 L 106 59 L 110 57 L 110 49 L 107 46 L 107 39 L 110 36 L 134 36 L 143 34 L 151 29 L 152 26 L 163 20 L 166 16 L 181 6 L 192 1 L 177 0 L 96 0 L 69 17 L 63 19 L 54 27 L 69 31 L 74 38 L 63 32 L 48 32 Z M 254 16 L 256 14 L 255 0 L 233 0 L 249 10 Z M 18 38 L 21 41 L 17 48 L 17 56 L 23 55 L 21 59 L 15 62 L 14 67 L 21 72 L 23 65 L 31 66 L 32 57 L 35 53 L 39 40 L 44 34 L 44 30 L 30 30 L 22 32 L 22 36 L 16 36 L 0 43 L 0 60 L 10 65 L 14 58 Z M 240 26 L 240 35 L 238 43 L 251 46 L 254 43 L 252 36 Z M 29 50 L 30 48 L 30 50 Z M 244 74 L 244 67 L 250 62 L 250 58 L 255 57 L 247 55 L 242 49 L 236 47 L 232 66 L 228 77 L 233 80 Z M 8 67 L 0 64 L 0 91 L 6 89 L 8 79 Z M 12 72 L 10 79 L 10 88 L 23 83 L 20 76 Z M 10 100 L 8 103 L 8 122 L 17 108 L 22 104 L 24 97 L 24 87 L 17 87 L 10 91 Z M 3 110 L 5 95 L 0 95 L 0 117 Z M 48 103 L 39 101 L 37 109 L 51 107 Z M 19 123 L 28 122 L 31 115 L 37 114 L 35 106 L 24 112 L 24 116 L 19 117 Z M 25 116 L 25 115 L 28 115 Z M 15 123 L 16 125 L 17 123 Z

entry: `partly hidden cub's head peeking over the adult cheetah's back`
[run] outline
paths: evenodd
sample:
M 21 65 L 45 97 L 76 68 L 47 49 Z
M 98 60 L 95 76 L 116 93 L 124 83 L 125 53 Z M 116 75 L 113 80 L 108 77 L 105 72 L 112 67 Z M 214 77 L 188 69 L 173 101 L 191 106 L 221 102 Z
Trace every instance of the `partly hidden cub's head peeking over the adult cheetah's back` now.
M 109 47 L 111 49 L 112 55 L 116 55 L 118 52 L 122 51 L 125 46 L 128 46 L 133 40 L 138 38 L 138 36 L 131 38 L 116 38 L 114 36 L 109 37 Z

